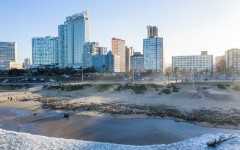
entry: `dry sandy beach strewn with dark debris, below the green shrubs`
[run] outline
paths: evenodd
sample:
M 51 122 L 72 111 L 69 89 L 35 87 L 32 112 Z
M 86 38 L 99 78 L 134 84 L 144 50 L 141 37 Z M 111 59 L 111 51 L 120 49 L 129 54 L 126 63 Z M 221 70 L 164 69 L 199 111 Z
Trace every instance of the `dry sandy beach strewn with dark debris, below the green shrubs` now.
M 209 127 L 239 129 L 240 92 L 216 86 L 178 85 L 179 92 L 159 94 L 147 86 L 144 93 L 114 86 L 99 90 L 98 84 L 83 84 L 81 90 L 32 87 L 1 91 L 0 107 L 40 113 L 45 109 L 106 118 L 172 118 Z M 162 87 L 164 88 L 164 87 Z

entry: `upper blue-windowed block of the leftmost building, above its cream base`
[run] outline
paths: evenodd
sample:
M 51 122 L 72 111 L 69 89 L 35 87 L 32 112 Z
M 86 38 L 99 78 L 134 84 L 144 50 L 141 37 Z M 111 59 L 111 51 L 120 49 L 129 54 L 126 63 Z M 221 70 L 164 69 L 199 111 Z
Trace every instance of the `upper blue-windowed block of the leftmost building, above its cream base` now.
M 0 62 L 17 61 L 17 43 L 0 42 Z

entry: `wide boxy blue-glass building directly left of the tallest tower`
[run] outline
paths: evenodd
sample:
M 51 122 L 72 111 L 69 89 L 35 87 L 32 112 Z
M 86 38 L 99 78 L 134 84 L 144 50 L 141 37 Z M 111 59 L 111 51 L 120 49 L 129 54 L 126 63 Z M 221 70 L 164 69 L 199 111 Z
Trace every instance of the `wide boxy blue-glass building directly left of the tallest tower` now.
M 32 38 L 33 66 L 58 65 L 58 38 L 36 37 Z

